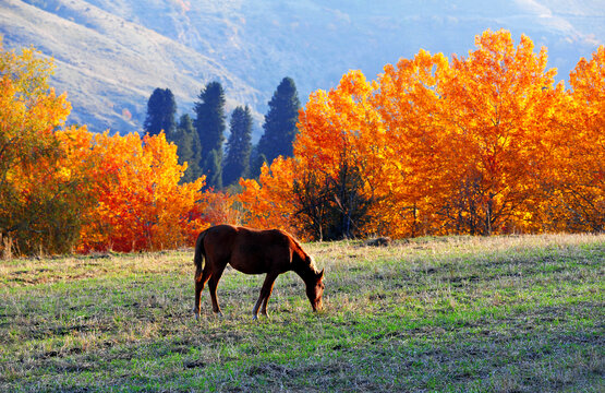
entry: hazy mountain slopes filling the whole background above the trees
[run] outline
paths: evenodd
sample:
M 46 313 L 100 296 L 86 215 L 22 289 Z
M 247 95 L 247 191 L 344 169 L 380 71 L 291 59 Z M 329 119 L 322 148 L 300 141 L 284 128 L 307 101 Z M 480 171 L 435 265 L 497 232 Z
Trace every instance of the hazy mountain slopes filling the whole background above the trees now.
M 350 69 L 375 79 L 386 63 L 424 48 L 464 56 L 474 36 L 524 33 L 567 80 L 605 40 L 603 0 L 0 0 L 8 47 L 34 45 L 56 59 L 52 84 L 73 104 L 71 122 L 121 133 L 142 128 L 155 87 L 179 112 L 219 81 L 228 111 L 250 105 L 255 138 L 266 104 L 291 76 L 304 104 Z

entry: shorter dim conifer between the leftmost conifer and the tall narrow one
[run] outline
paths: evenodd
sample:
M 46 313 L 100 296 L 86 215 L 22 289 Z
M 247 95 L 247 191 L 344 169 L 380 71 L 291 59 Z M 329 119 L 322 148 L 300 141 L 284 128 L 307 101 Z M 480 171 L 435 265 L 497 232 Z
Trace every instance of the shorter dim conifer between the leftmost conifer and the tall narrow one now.
M 179 164 L 187 163 L 187 169 L 181 182 L 192 182 L 202 176 L 199 168 L 201 150 L 199 136 L 193 127 L 193 120 L 189 115 L 181 116 L 174 136 L 170 138 L 179 147 L 177 155 Z

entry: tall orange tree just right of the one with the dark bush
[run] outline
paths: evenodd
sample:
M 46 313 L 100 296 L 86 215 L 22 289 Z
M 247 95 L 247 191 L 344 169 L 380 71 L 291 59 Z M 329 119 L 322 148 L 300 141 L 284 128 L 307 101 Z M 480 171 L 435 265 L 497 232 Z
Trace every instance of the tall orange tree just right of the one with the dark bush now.
M 438 93 L 448 68 L 441 53 L 420 50 L 413 59 L 400 59 L 396 67 L 387 64 L 378 79 L 372 105 L 386 130 L 376 143 L 386 148 L 385 167 L 376 183 L 385 195 L 379 201 L 383 228 L 390 236 L 440 230 L 435 212 L 449 195 L 445 178 L 452 171 L 447 163 L 451 138 Z

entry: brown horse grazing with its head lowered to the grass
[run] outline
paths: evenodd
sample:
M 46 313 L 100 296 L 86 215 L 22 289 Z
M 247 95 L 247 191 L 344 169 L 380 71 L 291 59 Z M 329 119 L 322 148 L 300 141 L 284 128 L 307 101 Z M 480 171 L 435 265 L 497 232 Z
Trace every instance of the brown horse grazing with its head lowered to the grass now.
M 206 263 L 202 262 L 206 258 Z M 294 271 L 306 284 L 306 296 L 313 311 L 322 309 L 324 271 L 317 271 L 313 259 L 289 234 L 278 230 L 256 230 L 232 225 L 217 225 L 204 230 L 195 243 L 195 318 L 199 317 L 199 297 L 208 283 L 214 312 L 222 315 L 216 289 L 222 271 L 229 263 L 245 274 L 264 274 L 265 283 L 261 296 L 252 309 L 252 318 L 267 315 L 267 302 L 278 275 Z

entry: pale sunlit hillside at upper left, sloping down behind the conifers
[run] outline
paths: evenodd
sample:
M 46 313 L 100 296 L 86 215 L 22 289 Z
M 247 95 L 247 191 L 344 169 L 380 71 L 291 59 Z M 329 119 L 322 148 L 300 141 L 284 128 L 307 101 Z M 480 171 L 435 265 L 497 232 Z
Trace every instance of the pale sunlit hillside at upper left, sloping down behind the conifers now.
M 257 91 L 192 48 L 83 1 L 45 3 L 57 14 L 2 0 L 0 34 L 9 45 L 33 44 L 55 58 L 52 84 L 68 92 L 72 122 L 133 131 L 155 87 L 170 87 L 186 107 L 211 80 L 222 83 L 229 107 L 258 102 Z

